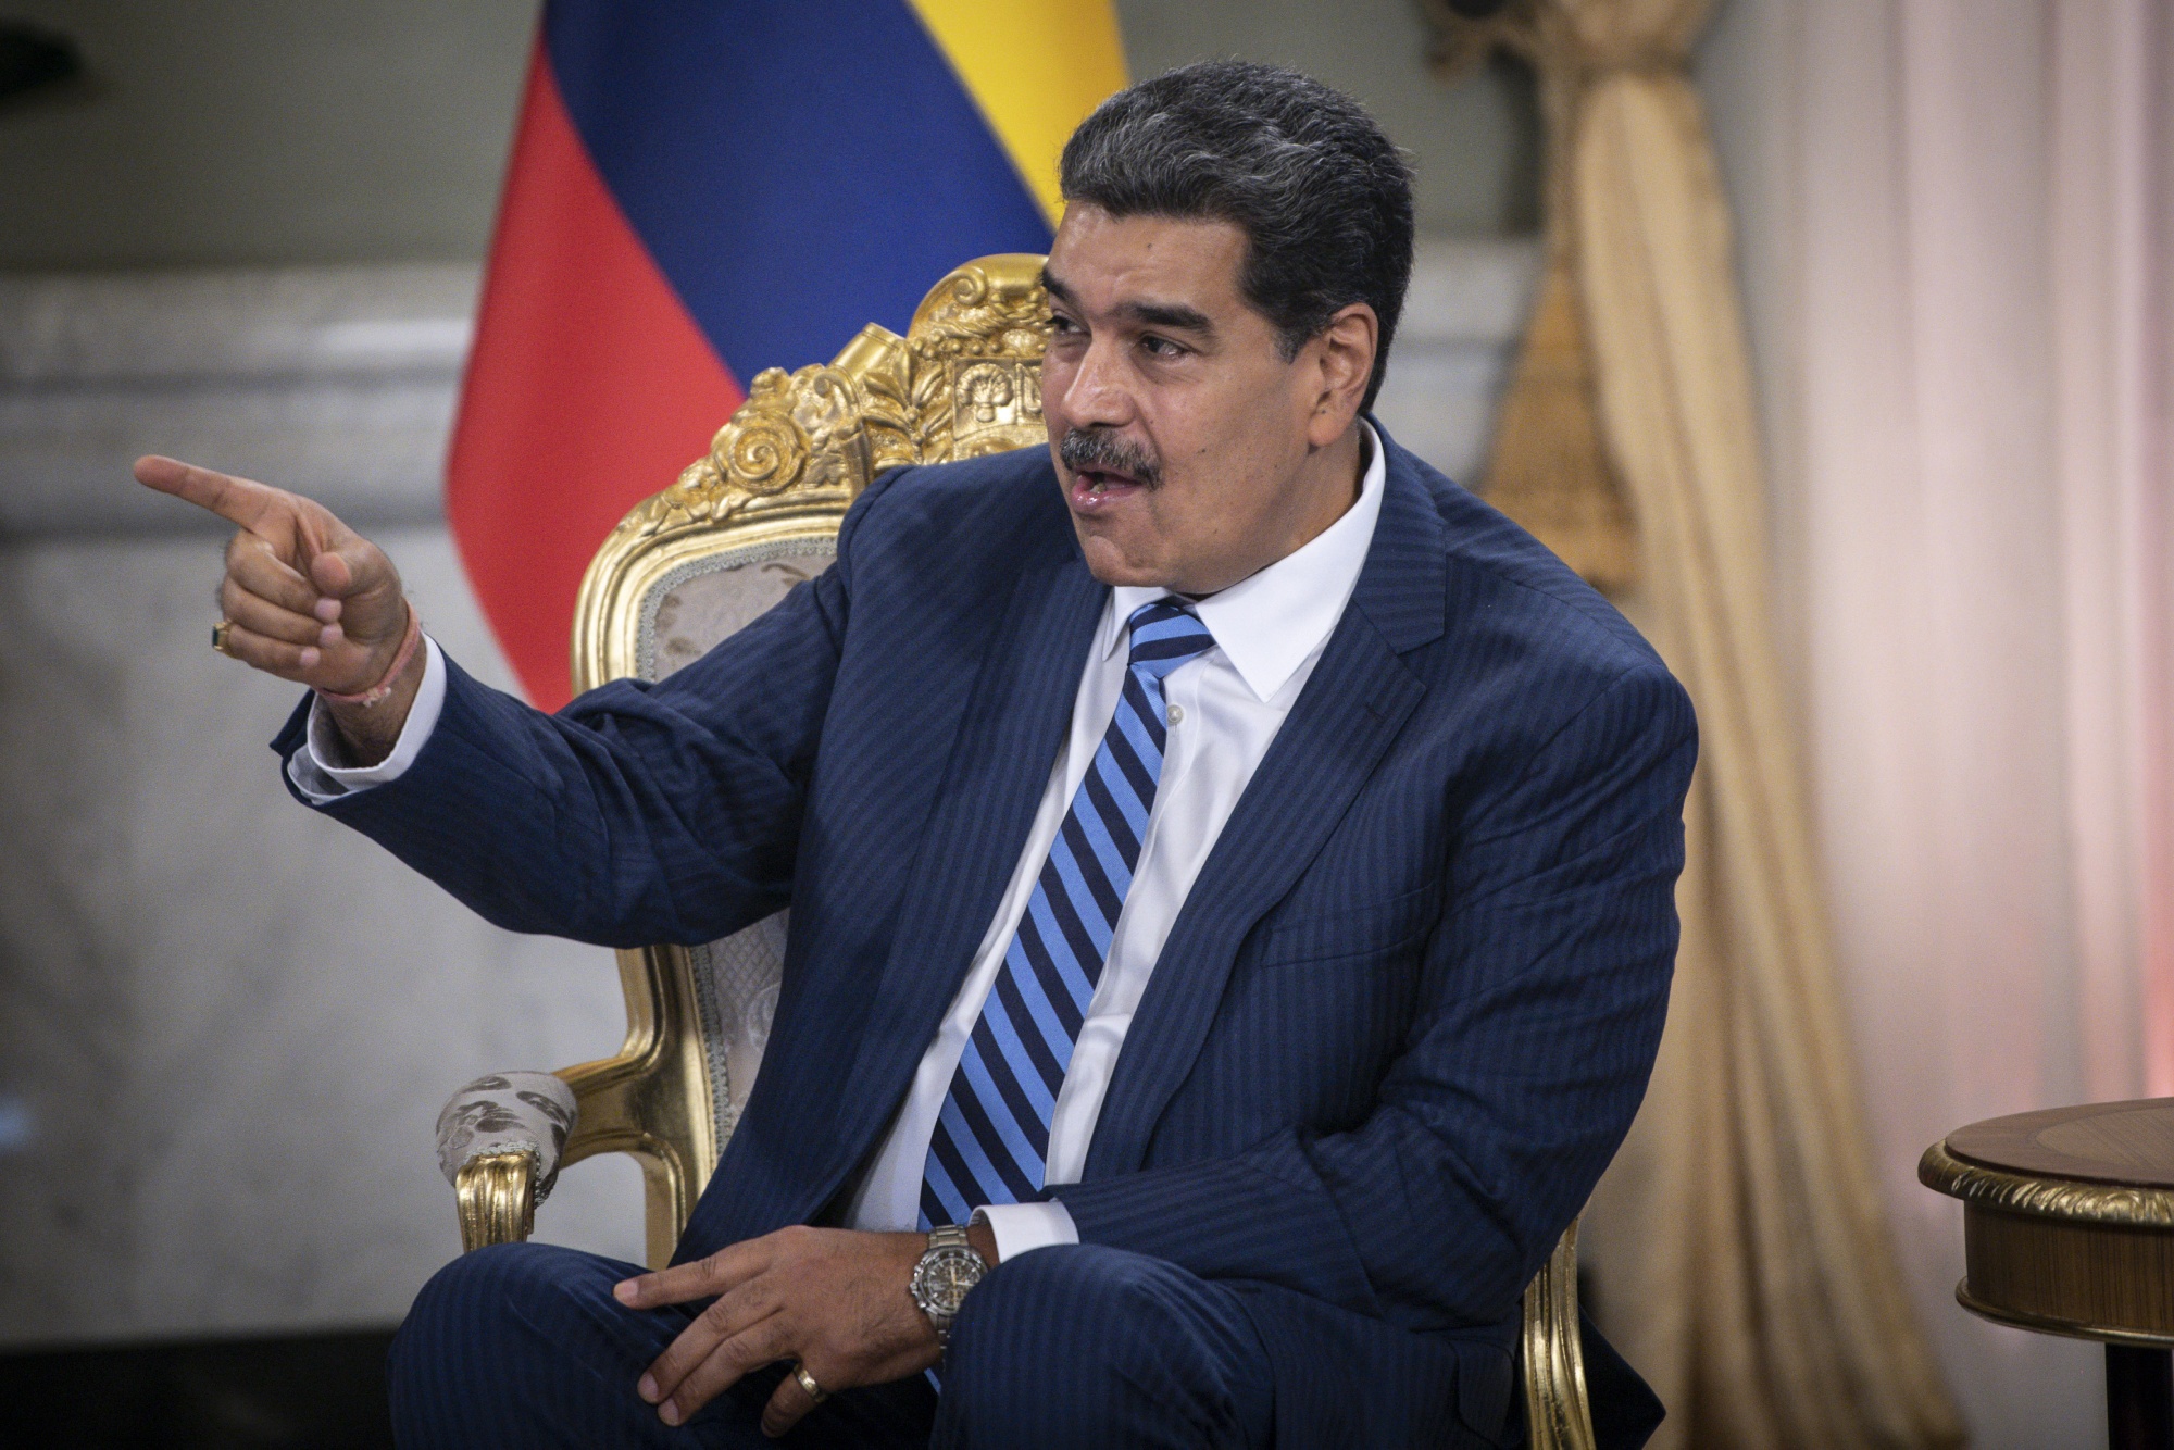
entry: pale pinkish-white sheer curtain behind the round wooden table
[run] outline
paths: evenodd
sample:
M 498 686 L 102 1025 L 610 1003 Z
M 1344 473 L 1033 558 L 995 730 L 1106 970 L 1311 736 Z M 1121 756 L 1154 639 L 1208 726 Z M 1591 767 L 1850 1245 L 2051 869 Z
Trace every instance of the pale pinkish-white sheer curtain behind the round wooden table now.
M 1959 1124 L 2174 1093 L 2174 4 L 1728 0 L 1776 600 L 1909 1287 L 1981 1450 L 2091 1343 L 1961 1313 Z

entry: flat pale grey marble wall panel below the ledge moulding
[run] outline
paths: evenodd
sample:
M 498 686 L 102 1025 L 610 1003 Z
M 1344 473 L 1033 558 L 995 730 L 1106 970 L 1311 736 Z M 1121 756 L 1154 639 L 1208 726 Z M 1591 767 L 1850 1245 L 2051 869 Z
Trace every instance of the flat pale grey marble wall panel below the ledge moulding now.
M 507 683 L 443 530 L 378 537 Z M 459 1248 L 448 1091 L 617 1043 L 609 952 L 485 926 L 287 798 L 296 691 L 207 648 L 217 554 L 0 546 L 0 1341 L 391 1322 Z M 546 1235 L 639 1257 L 611 1176 L 567 1174 Z

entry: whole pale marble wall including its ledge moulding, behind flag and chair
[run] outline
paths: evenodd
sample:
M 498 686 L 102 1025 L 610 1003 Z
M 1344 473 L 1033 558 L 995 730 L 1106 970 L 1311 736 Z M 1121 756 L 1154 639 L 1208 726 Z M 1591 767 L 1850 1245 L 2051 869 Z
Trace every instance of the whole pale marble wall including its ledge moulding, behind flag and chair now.
M 1380 400 L 1480 457 L 1526 243 L 1422 248 Z M 280 789 L 296 691 L 213 654 L 222 533 L 174 452 L 324 498 L 511 676 L 439 517 L 472 267 L 0 280 L 0 1346 L 389 1324 L 459 1250 L 430 1124 L 617 1046 L 609 952 L 485 926 Z M 539 1237 L 635 1259 L 639 1174 Z

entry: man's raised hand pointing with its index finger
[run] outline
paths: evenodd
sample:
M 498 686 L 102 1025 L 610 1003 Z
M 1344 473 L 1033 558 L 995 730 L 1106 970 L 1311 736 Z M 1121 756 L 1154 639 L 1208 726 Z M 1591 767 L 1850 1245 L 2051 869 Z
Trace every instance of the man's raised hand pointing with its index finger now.
M 250 478 L 157 454 L 137 459 L 135 476 L 237 526 L 220 585 L 228 654 L 337 696 L 393 685 L 374 707 L 326 700 L 350 763 L 385 759 L 424 672 L 417 650 L 402 678 L 385 680 L 409 628 L 400 572 L 385 550 L 322 504 Z

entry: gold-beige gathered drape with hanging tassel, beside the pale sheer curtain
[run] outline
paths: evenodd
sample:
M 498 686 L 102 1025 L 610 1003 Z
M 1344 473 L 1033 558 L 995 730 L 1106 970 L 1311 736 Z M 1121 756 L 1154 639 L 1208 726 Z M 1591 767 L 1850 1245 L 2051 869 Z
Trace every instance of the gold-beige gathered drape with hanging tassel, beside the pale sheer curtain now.
M 1670 1407 L 1657 1446 L 1948 1446 L 1961 1424 L 1896 1272 L 1772 646 L 1728 213 L 1685 76 L 1707 9 L 1437 13 L 1452 46 L 1511 43 L 1539 67 L 1557 304 L 1598 420 L 1583 487 L 1628 502 L 1626 604 L 1700 720 L 1667 1037 L 1587 1217 L 1600 1307 Z M 1546 376 L 1528 350 L 1517 389 Z M 1520 407 L 1513 391 L 1504 448 Z

